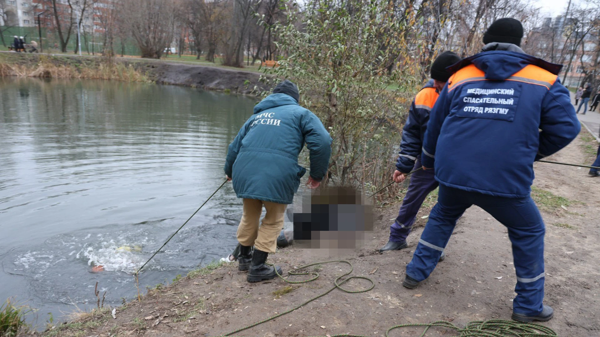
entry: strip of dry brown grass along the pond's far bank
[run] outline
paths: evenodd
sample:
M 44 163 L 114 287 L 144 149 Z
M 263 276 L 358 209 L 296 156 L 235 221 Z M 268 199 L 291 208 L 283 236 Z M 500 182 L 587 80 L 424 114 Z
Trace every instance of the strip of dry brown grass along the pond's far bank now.
M 0 53 L 0 76 L 152 82 L 131 64 L 101 58 Z

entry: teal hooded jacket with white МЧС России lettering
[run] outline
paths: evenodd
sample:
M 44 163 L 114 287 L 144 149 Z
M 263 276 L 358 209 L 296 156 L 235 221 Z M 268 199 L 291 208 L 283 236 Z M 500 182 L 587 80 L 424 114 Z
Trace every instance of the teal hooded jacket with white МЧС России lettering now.
M 329 168 L 331 137 L 310 110 L 286 94 L 272 94 L 254 106 L 254 114 L 229 145 L 225 173 L 238 198 L 292 203 L 306 169 L 298 154 L 306 143 L 310 176 L 321 180 Z

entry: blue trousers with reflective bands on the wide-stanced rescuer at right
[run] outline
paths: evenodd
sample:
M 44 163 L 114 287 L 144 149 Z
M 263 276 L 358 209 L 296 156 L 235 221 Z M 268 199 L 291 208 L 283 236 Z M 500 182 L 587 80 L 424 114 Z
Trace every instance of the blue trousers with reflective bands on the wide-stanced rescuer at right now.
M 494 197 L 440 185 L 438 202 L 431 210 L 415 254 L 406 267 L 406 275 L 417 281 L 428 278 L 442 254 L 439 249 L 446 247 L 457 219 L 472 204 L 490 213 L 508 229 L 517 272 L 513 311 L 538 315 L 542 312 L 544 299 L 545 226 L 530 197 Z

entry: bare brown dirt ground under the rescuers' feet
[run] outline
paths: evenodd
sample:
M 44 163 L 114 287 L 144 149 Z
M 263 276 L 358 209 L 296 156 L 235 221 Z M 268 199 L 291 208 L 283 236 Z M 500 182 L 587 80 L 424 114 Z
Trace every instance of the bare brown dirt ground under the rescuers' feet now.
M 586 142 L 585 135 L 580 136 L 549 160 L 591 163 L 590 155 L 584 151 Z M 585 169 L 544 163 L 535 165 L 535 173 L 535 194 L 542 200 L 539 205 L 544 209 L 547 225 L 545 302 L 555 309 L 553 320 L 544 325 L 561 337 L 599 336 L 600 178 L 587 176 Z M 395 218 L 397 207 L 380 209 L 373 240 L 344 256 L 354 264 L 352 275 L 374 280 L 373 290 L 358 294 L 334 290 L 298 311 L 236 335 L 314 336 L 347 332 L 383 336 L 395 324 L 452 320 L 464 326 L 474 320 L 510 318 L 515 272 L 505 227 L 478 207 L 471 207 L 452 235 L 446 260 L 419 288 L 407 290 L 401 281 L 422 227 L 409 236 L 409 248 L 382 255 L 375 252 L 388 238 L 390 219 Z M 427 210 L 422 214 L 427 214 Z M 419 219 L 419 223 L 423 222 Z M 292 246 L 270 260 L 290 270 L 326 257 Z M 368 275 L 375 267 L 376 271 Z M 47 333 L 116 337 L 221 335 L 322 293 L 332 286 L 341 270 L 348 270 L 346 264 L 324 264 L 317 281 L 293 285 L 286 293 L 282 290 L 288 284 L 278 279 L 248 284 L 244 272 L 236 266 L 225 266 L 152 291 L 141 303 L 117 309 L 116 319 L 105 312 L 98 314 L 99 320 L 84 321 L 79 326 L 65 324 L 62 329 Z M 366 281 L 353 280 L 347 288 L 358 290 L 368 285 Z M 276 296 L 274 291 L 284 294 Z M 406 328 L 395 330 L 391 336 L 420 333 L 421 330 Z M 437 330 L 428 336 L 445 334 L 448 332 Z

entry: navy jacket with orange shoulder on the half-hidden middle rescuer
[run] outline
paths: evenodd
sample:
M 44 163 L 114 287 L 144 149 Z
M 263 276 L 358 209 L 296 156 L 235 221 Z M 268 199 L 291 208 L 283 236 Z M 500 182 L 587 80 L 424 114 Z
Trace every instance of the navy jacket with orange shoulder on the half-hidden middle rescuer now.
M 433 86 L 433 80 L 429 80 L 410 104 L 409 116 L 402 130 L 402 142 L 396 161 L 398 171 L 409 173 L 415 166 L 415 160 L 421 156 L 429 112 L 436 104 L 437 97 L 439 97 L 439 93 Z

